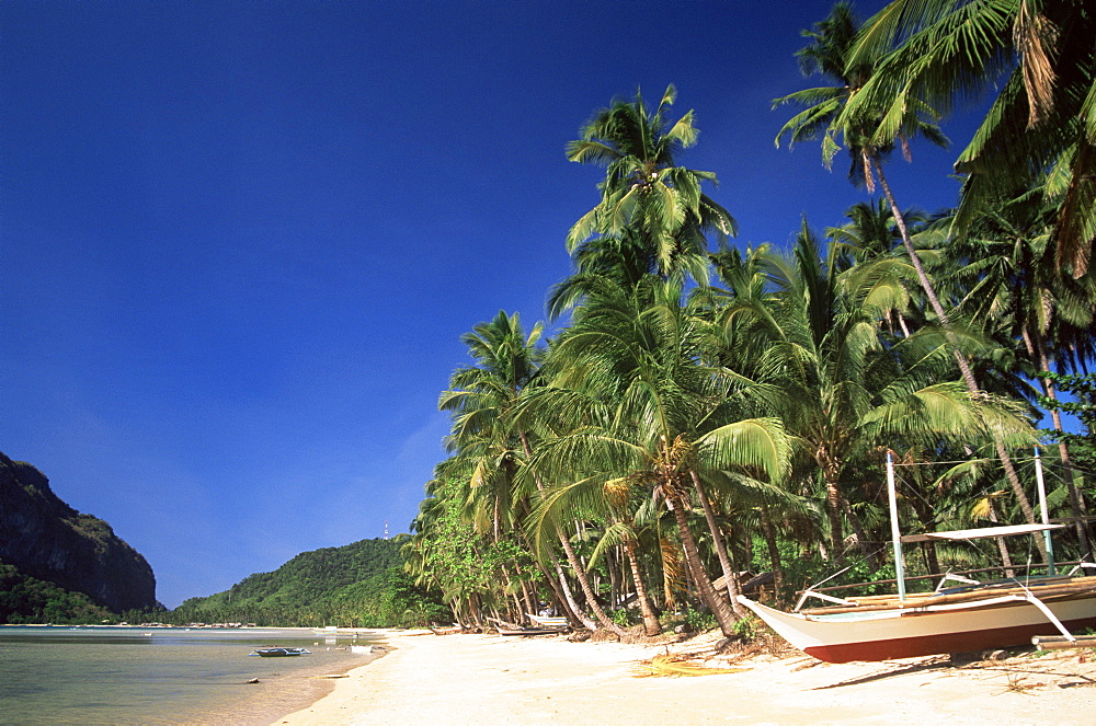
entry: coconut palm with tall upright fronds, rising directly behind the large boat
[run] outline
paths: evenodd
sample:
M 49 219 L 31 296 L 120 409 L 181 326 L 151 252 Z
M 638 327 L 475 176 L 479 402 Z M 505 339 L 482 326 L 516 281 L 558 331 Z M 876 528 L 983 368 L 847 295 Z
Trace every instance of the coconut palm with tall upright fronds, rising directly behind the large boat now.
M 840 245 L 823 253 L 804 222 L 790 255 L 770 255 L 770 287 L 727 304 L 726 358 L 786 392 L 772 401 L 784 403 L 777 415 L 821 472 L 832 552 L 840 556 L 844 549 L 844 515 L 870 557 L 850 506 L 858 496 L 850 471 L 857 457 L 900 441 L 985 439 L 989 419 L 1027 440 L 1032 431 L 1005 402 L 971 395 L 951 381 L 954 359 L 938 330 L 884 338 L 870 263 L 843 269 L 840 261 Z M 739 354 L 743 339 L 750 355 L 763 355 L 750 360 Z

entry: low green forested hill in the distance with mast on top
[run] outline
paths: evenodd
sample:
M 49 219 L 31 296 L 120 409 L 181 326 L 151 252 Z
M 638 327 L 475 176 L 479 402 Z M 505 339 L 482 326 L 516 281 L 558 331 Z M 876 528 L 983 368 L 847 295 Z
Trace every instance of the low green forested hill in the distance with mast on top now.
M 191 598 L 172 622 L 253 622 L 270 625 L 399 625 L 433 612 L 424 592 L 402 573 L 399 544 L 361 540 L 302 552 L 271 573 L 250 575 L 231 589 Z

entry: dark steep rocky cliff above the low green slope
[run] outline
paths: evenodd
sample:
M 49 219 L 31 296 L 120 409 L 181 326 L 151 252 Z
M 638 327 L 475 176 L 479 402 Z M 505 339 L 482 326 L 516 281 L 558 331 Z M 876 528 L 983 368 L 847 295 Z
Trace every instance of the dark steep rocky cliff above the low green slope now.
M 0 453 L 0 563 L 113 612 L 160 608 L 148 561 L 111 526 L 77 511 L 25 462 Z

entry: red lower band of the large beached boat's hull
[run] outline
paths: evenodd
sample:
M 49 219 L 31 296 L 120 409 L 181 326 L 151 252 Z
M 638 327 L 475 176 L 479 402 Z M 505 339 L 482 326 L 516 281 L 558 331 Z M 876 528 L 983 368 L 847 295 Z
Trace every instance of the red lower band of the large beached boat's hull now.
M 1071 632 L 1085 627 L 1096 627 L 1096 618 L 1068 620 L 1062 624 Z M 940 633 L 918 637 L 901 637 L 891 641 L 818 645 L 807 647 L 803 652 L 826 662 L 892 660 L 894 658 L 914 658 L 916 656 L 934 656 L 944 653 L 966 653 L 969 650 L 989 650 L 991 648 L 1030 645 L 1034 635 L 1061 635 L 1061 633 L 1050 623 L 1036 623 L 1034 625 L 1016 625 L 1014 627 L 997 627 L 995 630 L 969 631 L 966 633 Z

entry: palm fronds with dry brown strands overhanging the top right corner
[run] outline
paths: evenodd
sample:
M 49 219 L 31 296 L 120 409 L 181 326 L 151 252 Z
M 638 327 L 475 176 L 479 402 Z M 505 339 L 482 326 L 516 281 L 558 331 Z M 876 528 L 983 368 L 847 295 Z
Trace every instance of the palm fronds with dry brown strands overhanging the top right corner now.
M 895 44 L 898 47 L 894 48 Z M 893 50 L 892 50 L 893 48 Z M 888 53 L 890 51 L 890 53 Z M 875 140 L 911 100 L 941 110 L 985 93 L 993 105 L 956 163 L 967 174 L 956 223 L 1050 171 L 1051 241 L 1073 277 L 1096 240 L 1096 13 L 1086 0 L 893 0 L 864 25 L 850 62 L 878 58 L 852 105 L 889 107 Z

